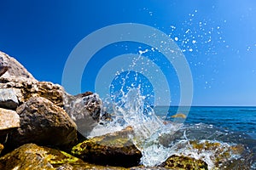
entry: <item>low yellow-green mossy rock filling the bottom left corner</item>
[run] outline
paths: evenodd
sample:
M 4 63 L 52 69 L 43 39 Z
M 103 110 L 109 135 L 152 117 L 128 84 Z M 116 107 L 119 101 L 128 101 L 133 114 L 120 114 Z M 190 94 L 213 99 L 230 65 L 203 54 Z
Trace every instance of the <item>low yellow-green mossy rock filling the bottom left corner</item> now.
M 0 169 L 19 170 L 84 170 L 84 169 L 113 169 L 125 170 L 123 167 L 102 167 L 93 165 L 71 156 L 64 151 L 37 144 L 24 144 L 20 148 L 0 158 Z

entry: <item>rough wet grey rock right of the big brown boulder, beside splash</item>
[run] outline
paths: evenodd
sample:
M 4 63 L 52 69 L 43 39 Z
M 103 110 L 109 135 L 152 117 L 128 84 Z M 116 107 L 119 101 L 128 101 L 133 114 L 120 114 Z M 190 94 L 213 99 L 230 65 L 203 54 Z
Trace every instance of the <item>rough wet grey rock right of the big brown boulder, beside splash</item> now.
M 102 100 L 98 94 L 87 92 L 76 96 L 67 96 L 65 111 L 78 126 L 78 131 L 87 137 L 100 120 Z

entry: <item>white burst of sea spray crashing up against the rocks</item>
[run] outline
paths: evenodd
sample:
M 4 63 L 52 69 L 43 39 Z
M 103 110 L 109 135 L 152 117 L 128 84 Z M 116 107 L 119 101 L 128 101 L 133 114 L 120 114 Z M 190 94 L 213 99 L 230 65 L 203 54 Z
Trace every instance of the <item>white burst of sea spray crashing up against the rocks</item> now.
M 163 120 L 154 114 L 153 106 L 145 102 L 145 96 L 139 88 L 130 88 L 127 93 L 122 90 L 120 92 L 121 94 L 112 96 L 112 102 L 108 99 L 102 107 L 103 112 L 111 113 L 113 120 L 99 123 L 88 137 L 113 133 L 131 126 L 134 132 L 130 136 L 131 140 L 143 154 L 141 163 L 147 167 L 160 165 L 171 156 L 172 149 L 169 145 L 160 144 L 160 137 L 165 134 L 172 136 L 182 124 L 165 125 Z M 117 96 L 119 99 L 115 99 Z

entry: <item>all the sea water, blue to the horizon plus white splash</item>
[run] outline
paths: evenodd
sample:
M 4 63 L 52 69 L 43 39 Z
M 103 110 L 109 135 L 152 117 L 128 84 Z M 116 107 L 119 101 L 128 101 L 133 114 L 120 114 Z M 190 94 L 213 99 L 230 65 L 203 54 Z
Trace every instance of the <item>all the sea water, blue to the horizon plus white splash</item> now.
M 256 169 L 255 107 L 191 107 L 183 122 L 177 121 L 183 119 L 181 117 L 172 118 L 177 114 L 177 106 L 147 105 L 138 88 L 122 92 L 118 98 L 103 105 L 113 116 L 113 121 L 100 123 L 89 138 L 131 126 L 134 131 L 131 140 L 141 150 L 141 164 L 144 166 L 160 165 L 176 155 L 205 161 L 208 169 L 229 166 L 225 163 L 233 161 L 236 162 L 234 167 L 228 169 Z M 183 113 L 188 107 L 180 107 L 178 111 Z M 193 141 L 219 145 L 215 149 L 197 150 L 191 147 Z M 216 164 L 219 154 L 237 145 L 242 145 L 245 150 L 239 154 L 230 152 L 230 158 L 224 158 L 228 160 Z

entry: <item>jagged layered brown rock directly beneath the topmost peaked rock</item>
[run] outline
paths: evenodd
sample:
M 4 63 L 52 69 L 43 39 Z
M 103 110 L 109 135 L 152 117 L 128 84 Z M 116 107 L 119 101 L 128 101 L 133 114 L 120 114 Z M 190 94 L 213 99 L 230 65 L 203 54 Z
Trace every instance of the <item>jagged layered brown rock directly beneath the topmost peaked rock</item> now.
M 63 106 L 64 89 L 52 82 L 38 82 L 27 78 L 0 77 L 0 88 L 12 88 L 20 104 L 32 96 L 38 95 L 49 99 L 55 105 Z

